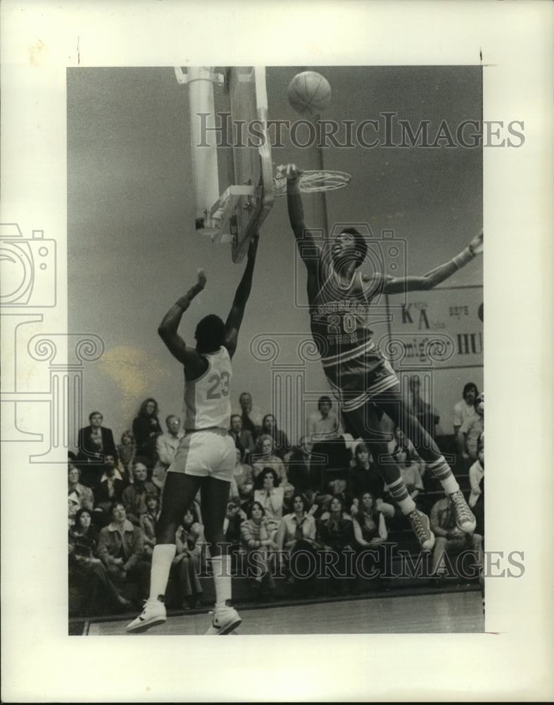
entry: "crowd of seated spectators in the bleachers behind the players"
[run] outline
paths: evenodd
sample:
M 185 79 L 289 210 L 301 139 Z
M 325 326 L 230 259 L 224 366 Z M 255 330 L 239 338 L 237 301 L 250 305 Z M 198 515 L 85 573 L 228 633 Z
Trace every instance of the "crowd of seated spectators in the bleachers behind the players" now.
M 438 420 L 436 412 L 422 402 L 417 382 L 410 382 L 410 390 L 430 430 Z M 467 548 L 481 555 L 483 550 L 484 400 L 472 383 L 465 385 L 462 396 L 454 408 L 453 438 L 458 470 L 467 479 L 462 489 L 478 522 L 472 536 L 459 534 L 440 486 L 429 478 L 425 463 L 400 429 L 394 429 L 389 443 L 410 496 L 430 516 L 436 535 L 434 575 L 445 572 L 444 554 Z M 234 565 L 239 564 L 237 556 L 243 566 L 246 558 L 254 594 L 270 595 L 276 572 L 285 575 L 299 595 L 313 594 L 316 564 L 332 565 L 326 591 L 341 593 L 353 584 L 341 580 L 352 577 L 348 554 L 367 548 L 379 552 L 393 537 L 411 536 L 370 448 L 344 432 L 332 406 L 329 397 L 320 398 L 296 445 L 277 427 L 274 415 L 261 415 L 253 407 L 249 393 L 241 394 L 230 419 L 237 462 L 225 537 Z M 101 413 L 92 412 L 89 426 L 79 432 L 76 452 L 68 458 L 69 576 L 83 613 L 137 608 L 148 595 L 165 475 L 184 436 L 175 414 L 165 419 L 163 431 L 152 398 L 141 404 L 118 446 L 102 423 Z M 198 576 L 209 570 L 199 496 L 185 513 L 175 543 L 171 575 L 180 605 L 189 609 L 202 600 Z M 134 584 L 134 591 L 126 590 L 127 584 Z

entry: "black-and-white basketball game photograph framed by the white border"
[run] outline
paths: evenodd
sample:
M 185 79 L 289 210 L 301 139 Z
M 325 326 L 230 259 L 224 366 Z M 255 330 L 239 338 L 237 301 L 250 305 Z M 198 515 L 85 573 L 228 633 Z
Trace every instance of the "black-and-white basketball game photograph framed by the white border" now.
M 70 449 L 72 633 L 203 633 L 214 603 L 240 634 L 484 630 L 482 71 L 68 71 L 68 329 L 103 346 Z

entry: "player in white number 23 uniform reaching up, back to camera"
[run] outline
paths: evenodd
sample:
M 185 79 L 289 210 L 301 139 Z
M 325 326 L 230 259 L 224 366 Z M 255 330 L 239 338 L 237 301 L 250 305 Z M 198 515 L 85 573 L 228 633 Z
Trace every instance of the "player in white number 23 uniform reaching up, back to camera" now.
M 231 358 L 244 308 L 250 295 L 256 262 L 258 236 L 248 247 L 248 260 L 227 321 L 210 314 L 196 326 L 196 348 L 191 348 L 177 333 L 182 314 L 206 284 L 199 270 L 198 281 L 172 305 L 158 328 L 172 355 L 184 367 L 184 429 L 175 460 L 168 469 L 163 501 L 156 527 L 150 577 L 150 596 L 144 611 L 129 625 L 127 632 L 144 632 L 166 620 L 165 589 L 175 557 L 175 532 L 187 508 L 201 490 L 202 518 L 215 583 L 215 613 L 206 634 L 229 634 L 241 623 L 230 606 L 230 557 L 223 533 L 236 449 L 227 433 L 231 417 Z

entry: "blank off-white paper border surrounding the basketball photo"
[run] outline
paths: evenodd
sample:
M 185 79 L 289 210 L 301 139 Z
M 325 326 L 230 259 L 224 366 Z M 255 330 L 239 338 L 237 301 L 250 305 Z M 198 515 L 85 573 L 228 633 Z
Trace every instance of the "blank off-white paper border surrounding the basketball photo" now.
M 267 636 L 216 644 L 68 637 L 67 564 L 60 525 L 52 520 L 65 478 L 51 479 L 56 465 L 28 465 L 18 443 L 3 443 L 3 701 L 552 697 L 554 488 L 545 446 L 554 421 L 553 7 L 488 0 L 5 0 L 0 12 L 2 222 L 18 222 L 27 238 L 41 228 L 56 240 L 60 283 L 66 280 L 70 66 L 469 65 L 480 63 L 481 54 L 484 119 L 521 120 L 526 140 L 520 149 L 484 149 L 487 462 L 498 470 L 487 476 L 487 496 L 502 508 L 491 513 L 488 505 L 487 543 L 524 551 L 526 568 L 520 580 L 487 581 L 486 633 Z M 56 307 L 42 315 L 49 329 L 65 332 L 63 286 Z M 17 350 L 4 343 L 3 367 L 15 369 Z M 14 383 L 23 391 L 19 375 L 27 372 L 17 369 Z M 6 384 L 3 377 L 3 391 Z M 41 384 L 48 388 L 49 380 Z M 21 503 L 23 474 L 27 486 L 41 491 L 25 493 Z M 37 517 L 39 532 L 30 517 Z

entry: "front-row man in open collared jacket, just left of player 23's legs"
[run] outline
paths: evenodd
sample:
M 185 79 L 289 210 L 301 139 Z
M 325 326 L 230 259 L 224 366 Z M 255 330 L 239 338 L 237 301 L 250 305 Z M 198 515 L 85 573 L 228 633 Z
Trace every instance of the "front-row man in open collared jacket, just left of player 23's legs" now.
M 137 582 L 138 608 L 150 591 L 150 563 L 144 560 L 144 534 L 127 519 L 121 502 L 113 503 L 111 516 L 112 521 L 100 532 L 98 555 L 118 594 L 122 594 L 126 584 Z

